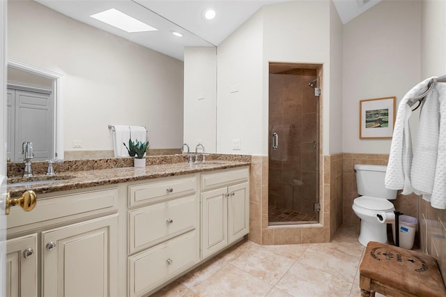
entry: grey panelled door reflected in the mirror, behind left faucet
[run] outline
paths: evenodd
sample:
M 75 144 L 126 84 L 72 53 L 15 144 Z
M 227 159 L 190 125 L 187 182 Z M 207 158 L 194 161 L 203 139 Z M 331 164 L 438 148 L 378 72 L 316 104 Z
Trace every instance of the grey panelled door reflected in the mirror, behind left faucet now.
M 7 158 L 22 161 L 22 143 L 32 142 L 33 160 L 53 159 L 52 91 L 8 85 L 7 93 Z

